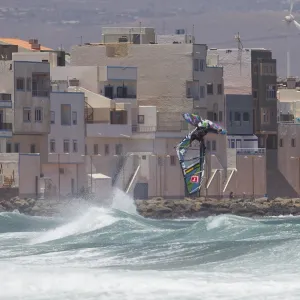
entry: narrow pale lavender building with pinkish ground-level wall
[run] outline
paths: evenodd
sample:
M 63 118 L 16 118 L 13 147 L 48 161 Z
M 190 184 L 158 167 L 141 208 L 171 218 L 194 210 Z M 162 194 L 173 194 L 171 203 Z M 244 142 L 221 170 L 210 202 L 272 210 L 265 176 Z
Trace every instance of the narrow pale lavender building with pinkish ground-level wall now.
M 48 161 L 43 178 L 58 195 L 74 194 L 86 186 L 84 93 L 50 93 Z

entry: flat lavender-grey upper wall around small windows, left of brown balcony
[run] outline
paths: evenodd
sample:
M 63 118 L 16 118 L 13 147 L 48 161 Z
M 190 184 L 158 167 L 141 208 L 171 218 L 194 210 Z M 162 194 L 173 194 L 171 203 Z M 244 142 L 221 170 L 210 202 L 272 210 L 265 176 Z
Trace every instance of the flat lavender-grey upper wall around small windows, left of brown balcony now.
M 83 163 L 85 153 L 85 121 L 84 121 L 84 94 L 83 93 L 51 93 L 51 111 L 54 112 L 54 124 L 51 124 L 51 132 L 48 135 L 48 144 L 55 141 L 54 153 L 64 153 L 64 140 L 69 141 L 69 154 L 61 156 L 61 163 Z M 61 104 L 71 106 L 71 125 L 61 124 Z M 77 113 L 77 124 L 73 124 L 73 112 Z M 73 142 L 77 142 L 77 152 L 73 149 Z M 48 148 L 49 153 L 52 152 Z M 57 155 L 49 154 L 49 163 L 57 163 Z

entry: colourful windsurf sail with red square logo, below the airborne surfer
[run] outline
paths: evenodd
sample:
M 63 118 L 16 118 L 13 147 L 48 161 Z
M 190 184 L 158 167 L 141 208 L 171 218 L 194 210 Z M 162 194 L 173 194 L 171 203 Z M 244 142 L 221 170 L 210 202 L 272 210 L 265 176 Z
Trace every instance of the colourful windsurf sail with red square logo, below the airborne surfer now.
M 182 169 L 185 186 L 189 194 L 198 192 L 204 179 L 205 147 L 189 147 L 193 132 L 177 145 L 176 151 Z

